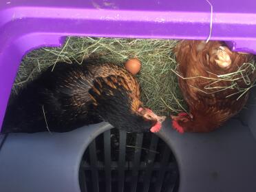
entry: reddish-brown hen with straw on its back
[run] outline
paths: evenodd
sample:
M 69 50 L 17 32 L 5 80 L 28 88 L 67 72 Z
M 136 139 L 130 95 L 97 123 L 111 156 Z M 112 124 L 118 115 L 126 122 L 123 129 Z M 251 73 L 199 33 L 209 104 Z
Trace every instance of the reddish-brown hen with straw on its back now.
M 253 55 L 231 52 L 221 41 L 180 41 L 175 56 L 180 89 L 189 107 L 189 114 L 171 116 L 177 131 L 213 131 L 244 107 L 248 92 L 242 95 L 241 89 L 255 80 L 255 72 L 245 64 Z M 224 74 L 237 70 L 243 70 L 247 79 L 240 73 L 225 78 Z

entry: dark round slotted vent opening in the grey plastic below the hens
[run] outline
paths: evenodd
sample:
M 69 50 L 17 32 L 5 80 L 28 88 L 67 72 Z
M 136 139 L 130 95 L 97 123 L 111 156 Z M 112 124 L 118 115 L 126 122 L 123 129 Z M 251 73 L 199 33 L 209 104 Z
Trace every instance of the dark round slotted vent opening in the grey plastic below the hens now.
M 158 136 L 111 129 L 85 151 L 80 185 L 82 192 L 174 192 L 178 166 Z

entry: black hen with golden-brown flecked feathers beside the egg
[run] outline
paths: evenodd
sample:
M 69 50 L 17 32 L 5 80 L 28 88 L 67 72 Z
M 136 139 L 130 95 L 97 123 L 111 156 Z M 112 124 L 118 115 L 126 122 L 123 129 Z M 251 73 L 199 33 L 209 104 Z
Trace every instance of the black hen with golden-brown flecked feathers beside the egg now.
M 126 131 L 158 131 L 163 119 L 143 107 L 136 78 L 124 68 L 57 63 L 8 106 L 2 131 L 64 132 L 102 120 Z

